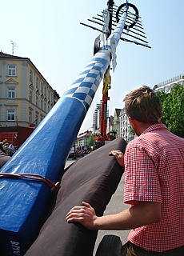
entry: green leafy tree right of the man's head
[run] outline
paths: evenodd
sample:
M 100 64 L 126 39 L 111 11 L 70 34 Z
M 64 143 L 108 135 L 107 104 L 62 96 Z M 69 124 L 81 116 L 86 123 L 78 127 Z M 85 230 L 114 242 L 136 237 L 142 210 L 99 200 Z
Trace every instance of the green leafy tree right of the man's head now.
M 170 93 L 157 92 L 162 102 L 164 123 L 168 129 L 184 138 L 184 86 L 174 84 Z

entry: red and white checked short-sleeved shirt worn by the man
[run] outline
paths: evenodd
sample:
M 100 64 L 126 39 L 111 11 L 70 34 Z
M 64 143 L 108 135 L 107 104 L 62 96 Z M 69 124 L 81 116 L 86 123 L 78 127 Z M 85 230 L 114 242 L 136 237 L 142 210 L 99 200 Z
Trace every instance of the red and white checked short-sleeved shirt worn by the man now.
M 162 220 L 130 230 L 128 240 L 162 252 L 184 246 L 184 139 L 154 124 L 126 146 L 124 202 L 161 202 Z

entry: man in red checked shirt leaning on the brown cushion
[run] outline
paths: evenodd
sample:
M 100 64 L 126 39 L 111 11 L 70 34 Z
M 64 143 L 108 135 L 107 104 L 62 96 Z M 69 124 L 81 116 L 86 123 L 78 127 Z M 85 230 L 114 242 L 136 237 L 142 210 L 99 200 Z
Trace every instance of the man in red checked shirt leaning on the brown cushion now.
M 184 255 L 184 139 L 162 124 L 158 95 L 142 86 L 126 95 L 126 114 L 138 135 L 121 151 L 125 166 L 124 202 L 130 208 L 98 217 L 87 202 L 74 206 L 67 222 L 90 230 L 130 230 L 122 256 Z

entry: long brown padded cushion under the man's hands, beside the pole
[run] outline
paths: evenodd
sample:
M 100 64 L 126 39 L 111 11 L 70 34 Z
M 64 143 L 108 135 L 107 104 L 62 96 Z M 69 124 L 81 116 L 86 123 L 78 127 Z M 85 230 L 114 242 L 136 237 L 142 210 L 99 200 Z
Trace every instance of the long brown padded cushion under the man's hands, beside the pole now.
M 126 149 L 126 142 L 117 138 L 74 162 L 62 177 L 52 214 L 42 226 L 26 256 L 92 256 L 97 230 L 81 224 L 67 223 L 66 214 L 82 201 L 89 202 L 102 216 L 112 194 L 118 187 L 124 168 L 109 156 L 110 150 Z

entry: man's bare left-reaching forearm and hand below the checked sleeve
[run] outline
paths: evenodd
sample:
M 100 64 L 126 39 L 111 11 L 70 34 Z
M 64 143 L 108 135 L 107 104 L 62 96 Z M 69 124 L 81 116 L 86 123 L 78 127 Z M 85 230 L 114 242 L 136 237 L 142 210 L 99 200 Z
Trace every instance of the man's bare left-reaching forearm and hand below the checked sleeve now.
M 66 215 L 66 222 L 79 222 L 89 230 L 131 230 L 161 220 L 160 202 L 137 202 L 118 214 L 96 216 L 89 203 L 74 206 Z

